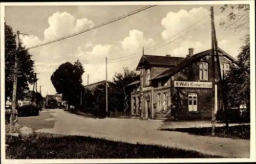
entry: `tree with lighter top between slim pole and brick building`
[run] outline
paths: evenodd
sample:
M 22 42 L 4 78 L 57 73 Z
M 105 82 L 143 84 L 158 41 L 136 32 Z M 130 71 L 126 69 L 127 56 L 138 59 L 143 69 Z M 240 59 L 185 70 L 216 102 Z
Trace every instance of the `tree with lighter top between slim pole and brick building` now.
M 113 83 L 110 84 L 110 105 L 114 111 L 126 111 L 129 108 L 127 102 L 130 101 L 131 89 L 125 86 L 139 80 L 139 74 L 135 71 L 130 71 L 128 67 L 123 68 L 124 73 L 116 73 L 113 78 Z

